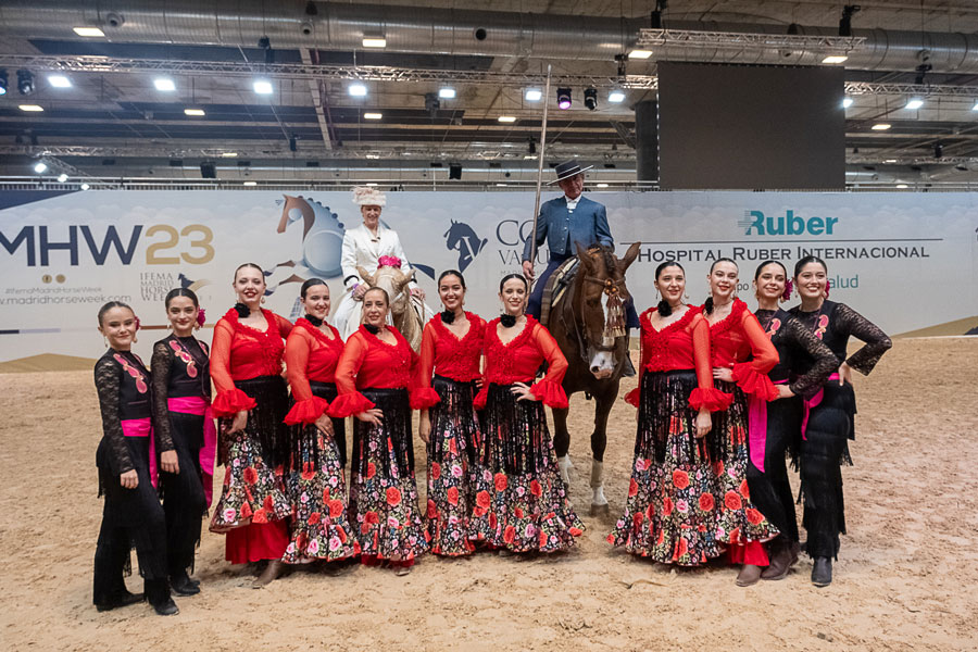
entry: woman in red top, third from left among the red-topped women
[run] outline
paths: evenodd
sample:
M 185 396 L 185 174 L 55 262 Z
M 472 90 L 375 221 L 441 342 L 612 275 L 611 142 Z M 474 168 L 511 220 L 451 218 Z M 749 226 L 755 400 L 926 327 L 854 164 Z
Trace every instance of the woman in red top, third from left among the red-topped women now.
M 349 515 L 363 563 L 386 562 L 406 574 L 428 549 L 417 503 L 408 388 L 417 355 L 387 326 L 390 300 L 380 288 L 363 296 L 364 323 L 347 339 L 336 368 L 339 396 L 329 415 L 355 416 Z

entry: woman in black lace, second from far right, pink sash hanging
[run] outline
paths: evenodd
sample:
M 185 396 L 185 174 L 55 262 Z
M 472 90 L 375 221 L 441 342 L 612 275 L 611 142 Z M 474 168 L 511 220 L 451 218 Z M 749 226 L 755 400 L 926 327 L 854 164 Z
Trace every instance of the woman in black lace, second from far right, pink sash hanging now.
M 785 291 L 787 284 L 788 273 L 776 261 L 761 263 L 754 273 L 754 315 L 778 351 L 778 364 L 767 374 L 777 387 L 777 399 L 751 404 L 748 487 L 757 509 L 780 531 L 768 543 L 770 565 L 761 574 L 763 579 L 782 579 L 798 562 L 798 519 L 786 453 L 789 447 L 797 450 L 801 440 L 803 401 L 812 398 L 839 365 L 814 333 L 778 305 L 790 294 L 790 286 Z

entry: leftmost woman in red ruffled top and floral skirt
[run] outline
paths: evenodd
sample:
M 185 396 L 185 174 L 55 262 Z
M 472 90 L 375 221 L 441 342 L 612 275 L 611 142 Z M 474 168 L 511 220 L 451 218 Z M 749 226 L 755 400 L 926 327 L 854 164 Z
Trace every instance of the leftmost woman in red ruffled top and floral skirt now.
M 286 518 L 291 506 L 283 468 L 289 461 L 289 410 L 281 377 L 283 340 L 292 329 L 285 317 L 263 310 L 265 275 L 246 263 L 235 271 L 238 303 L 214 326 L 211 378 L 217 389 L 214 414 L 221 417 L 220 464 L 224 491 L 211 530 L 227 532 L 226 559 L 233 564 L 268 560 L 255 580 L 261 587 L 281 573 L 289 543 Z

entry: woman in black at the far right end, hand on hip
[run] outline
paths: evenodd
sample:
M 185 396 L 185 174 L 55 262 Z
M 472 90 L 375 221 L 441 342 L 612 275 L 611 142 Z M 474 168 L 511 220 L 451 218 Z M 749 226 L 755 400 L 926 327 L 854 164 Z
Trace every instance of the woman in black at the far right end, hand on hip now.
M 892 346 L 878 326 L 844 303 L 828 300 L 827 274 L 820 259 L 801 259 L 794 266 L 794 284 L 802 302 L 790 311 L 832 350 L 840 363 L 838 373 L 829 377 L 822 391 L 805 402 L 802 425 L 803 524 L 808 534 L 805 549 L 815 560 L 812 582 L 816 586 L 831 584 L 832 559 L 839 554 L 839 535 L 845 534 L 841 462 L 849 459 L 848 440 L 853 438 L 856 413 L 852 369 L 868 374 Z M 850 336 L 866 344 L 847 360 Z M 807 368 L 803 364 L 801 372 Z

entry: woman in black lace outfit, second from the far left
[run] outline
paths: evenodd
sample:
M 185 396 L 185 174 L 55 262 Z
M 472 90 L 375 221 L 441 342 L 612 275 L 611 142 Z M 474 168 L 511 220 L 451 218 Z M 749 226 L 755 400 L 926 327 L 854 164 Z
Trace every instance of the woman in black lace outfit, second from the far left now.
M 173 441 L 175 473 L 163 474 L 163 512 L 166 515 L 166 552 L 170 585 L 178 595 L 200 592 L 187 570 L 200 542 L 201 519 L 208 505 L 201 474 L 201 448 L 210 421 L 211 375 L 208 349 L 193 337 L 201 314 L 197 294 L 177 288 L 166 294 L 166 317 L 173 335 L 153 344 L 153 414 L 156 428 Z M 213 454 L 206 477 L 214 473 Z

